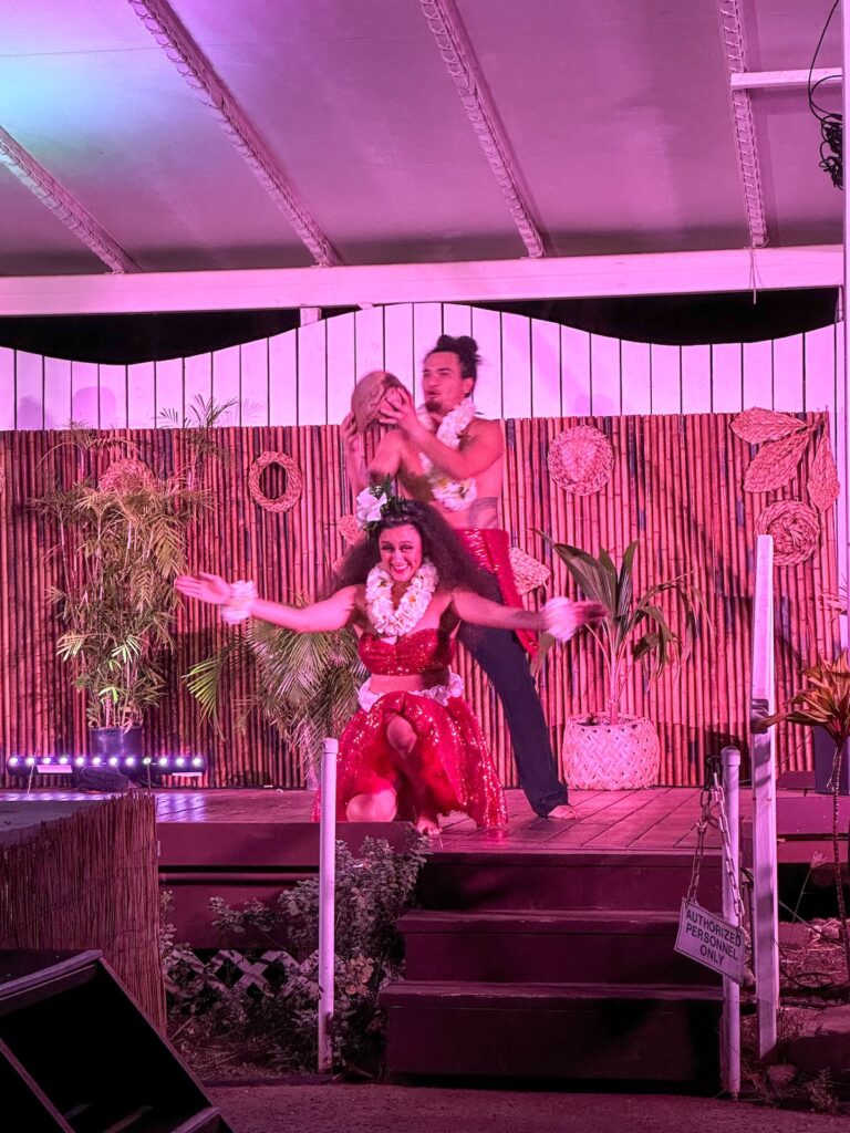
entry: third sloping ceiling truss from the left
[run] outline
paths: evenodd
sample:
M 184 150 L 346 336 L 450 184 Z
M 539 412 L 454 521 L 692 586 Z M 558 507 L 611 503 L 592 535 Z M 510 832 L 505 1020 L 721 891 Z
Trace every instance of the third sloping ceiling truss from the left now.
M 445 69 L 454 84 L 478 145 L 493 171 L 508 212 L 529 256 L 545 255 L 543 233 L 534 219 L 530 196 L 524 187 L 519 162 L 482 75 L 478 60 L 454 0 L 419 0 Z

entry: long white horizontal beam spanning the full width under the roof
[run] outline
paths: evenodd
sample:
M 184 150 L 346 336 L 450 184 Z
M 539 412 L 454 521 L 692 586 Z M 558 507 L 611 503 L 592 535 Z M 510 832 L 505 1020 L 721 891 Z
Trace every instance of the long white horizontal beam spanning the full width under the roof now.
M 0 276 L 0 315 L 127 314 L 839 287 L 841 245 L 459 264 Z

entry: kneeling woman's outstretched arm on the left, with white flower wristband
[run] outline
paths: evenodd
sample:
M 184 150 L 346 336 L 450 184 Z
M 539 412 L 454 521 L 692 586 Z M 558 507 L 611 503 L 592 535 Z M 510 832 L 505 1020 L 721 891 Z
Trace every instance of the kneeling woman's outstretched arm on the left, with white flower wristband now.
M 246 583 L 241 583 L 243 587 Z M 238 611 L 238 616 L 230 621 L 241 621 L 244 617 L 260 617 L 272 625 L 282 625 L 298 633 L 322 633 L 330 630 L 341 630 L 351 621 L 356 608 L 357 587 L 346 586 L 337 590 L 323 602 L 314 602 L 308 606 L 284 606 L 281 602 L 269 602 L 254 597 L 246 590 L 239 590 L 218 574 L 181 574 L 175 580 L 175 589 L 187 598 L 221 606 L 223 611 Z M 222 613 L 224 620 L 227 615 Z

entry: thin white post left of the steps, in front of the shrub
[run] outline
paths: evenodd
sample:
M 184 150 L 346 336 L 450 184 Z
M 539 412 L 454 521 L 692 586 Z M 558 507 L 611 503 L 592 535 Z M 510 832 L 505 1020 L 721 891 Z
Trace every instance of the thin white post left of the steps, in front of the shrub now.
M 333 985 L 335 974 L 337 740 L 322 743 L 322 795 L 318 826 L 318 1072 L 333 1065 Z

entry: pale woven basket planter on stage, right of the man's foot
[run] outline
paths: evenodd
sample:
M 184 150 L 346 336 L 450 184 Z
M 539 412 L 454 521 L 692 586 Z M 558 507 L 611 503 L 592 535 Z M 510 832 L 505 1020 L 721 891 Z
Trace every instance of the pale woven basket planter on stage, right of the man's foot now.
M 563 733 L 563 777 L 578 791 L 632 791 L 658 782 L 661 748 L 652 721 L 621 716 L 619 724 L 573 716 Z

